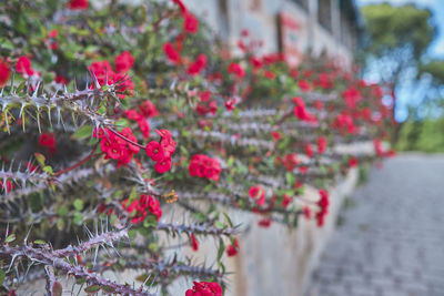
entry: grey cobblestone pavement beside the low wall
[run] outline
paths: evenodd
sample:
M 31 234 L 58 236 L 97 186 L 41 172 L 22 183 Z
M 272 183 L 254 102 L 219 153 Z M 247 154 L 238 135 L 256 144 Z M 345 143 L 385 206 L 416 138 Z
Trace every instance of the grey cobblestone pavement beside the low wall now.
M 444 155 L 373 170 L 342 211 L 306 296 L 444 296 Z

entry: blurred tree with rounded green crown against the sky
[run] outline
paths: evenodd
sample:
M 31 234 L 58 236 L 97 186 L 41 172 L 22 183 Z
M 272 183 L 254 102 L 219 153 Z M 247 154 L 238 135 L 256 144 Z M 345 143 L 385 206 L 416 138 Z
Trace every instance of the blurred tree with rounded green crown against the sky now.
M 393 85 L 397 93 L 412 83 L 412 95 L 427 95 L 428 86 L 415 88 L 427 83 L 425 71 L 420 71 L 426 58 L 436 28 L 431 21 L 428 9 L 418 9 L 414 4 L 393 7 L 389 3 L 370 4 L 362 8 L 366 37 L 363 41 L 365 71 L 377 73 L 380 82 Z M 433 75 L 432 72 L 428 72 Z M 424 84 L 422 84 L 424 85 Z M 394 100 L 393 112 L 396 109 Z M 397 140 L 402 123 L 394 127 L 392 143 Z

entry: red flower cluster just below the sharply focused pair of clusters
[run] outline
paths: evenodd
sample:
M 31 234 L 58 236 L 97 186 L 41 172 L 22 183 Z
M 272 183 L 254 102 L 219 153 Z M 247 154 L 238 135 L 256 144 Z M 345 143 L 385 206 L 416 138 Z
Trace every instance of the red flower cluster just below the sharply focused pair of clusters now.
M 151 195 L 142 194 L 139 200 L 132 201 L 132 203 L 127 206 L 128 201 L 129 200 L 123 201 L 122 204 L 128 213 L 133 214 L 131 220 L 133 224 L 143 222 L 148 214 L 154 215 L 157 221 L 162 216 L 162 208 L 160 208 L 159 201 Z

